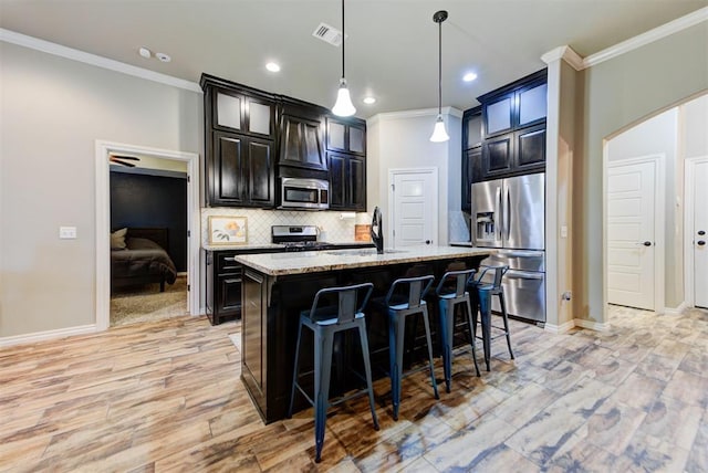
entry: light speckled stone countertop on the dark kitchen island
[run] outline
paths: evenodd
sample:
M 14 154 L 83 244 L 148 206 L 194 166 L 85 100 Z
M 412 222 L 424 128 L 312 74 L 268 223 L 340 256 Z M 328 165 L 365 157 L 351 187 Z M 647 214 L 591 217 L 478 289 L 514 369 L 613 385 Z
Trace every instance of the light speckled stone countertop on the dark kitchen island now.
M 263 274 L 282 276 L 477 255 L 486 256 L 496 252 L 497 250 L 488 248 L 416 246 L 393 250 L 384 254 L 376 253 L 375 249 L 243 254 L 237 255 L 236 261 Z

